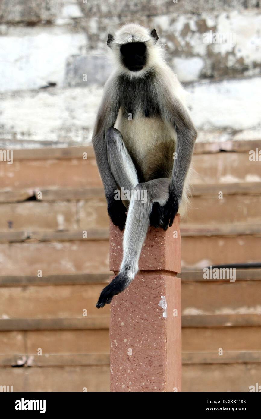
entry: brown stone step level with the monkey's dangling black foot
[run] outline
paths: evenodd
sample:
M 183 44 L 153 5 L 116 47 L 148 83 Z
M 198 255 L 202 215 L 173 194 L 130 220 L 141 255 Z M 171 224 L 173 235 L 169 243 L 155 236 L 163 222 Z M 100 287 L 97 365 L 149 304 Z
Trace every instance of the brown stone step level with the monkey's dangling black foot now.
M 231 282 L 230 282 L 231 281 Z M 182 282 L 182 315 L 193 322 L 195 316 L 258 316 L 261 321 L 260 283 L 237 281 L 236 269 L 230 281 Z M 107 277 L 109 283 L 109 277 Z M 135 279 L 134 279 L 135 282 Z M 130 285 L 132 287 L 132 285 Z M 93 317 L 109 316 L 110 306 L 97 310 L 96 303 L 104 284 L 30 285 L 1 287 L 0 318 L 32 319 L 75 318 L 86 322 Z M 127 298 L 127 297 L 125 297 Z M 190 320 L 188 320 L 190 319 Z M 234 320 L 233 320 L 234 321 Z M 189 325 L 189 323 L 188 323 Z M 211 326 L 211 324 L 210 324 Z

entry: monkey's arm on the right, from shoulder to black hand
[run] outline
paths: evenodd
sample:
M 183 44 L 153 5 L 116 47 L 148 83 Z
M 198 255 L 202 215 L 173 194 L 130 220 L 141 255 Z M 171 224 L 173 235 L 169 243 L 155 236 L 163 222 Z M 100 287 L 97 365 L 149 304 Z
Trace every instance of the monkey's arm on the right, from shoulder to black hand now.
M 168 225 L 170 227 L 172 226 L 173 219 L 178 212 L 185 178 L 189 170 L 197 137 L 196 128 L 189 116 L 189 112 L 181 101 L 179 101 L 178 98 L 171 96 L 169 91 L 165 91 L 165 99 L 165 116 L 173 125 L 177 133 L 177 158 L 173 160 L 170 196 L 163 209 L 164 230 L 168 228 Z

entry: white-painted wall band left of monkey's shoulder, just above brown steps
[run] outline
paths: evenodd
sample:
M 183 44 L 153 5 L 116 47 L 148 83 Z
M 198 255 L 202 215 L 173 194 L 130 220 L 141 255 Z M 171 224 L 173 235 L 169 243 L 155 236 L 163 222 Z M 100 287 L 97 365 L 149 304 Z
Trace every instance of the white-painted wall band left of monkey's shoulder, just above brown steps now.
M 101 94 L 102 88 L 2 94 L 0 138 L 86 142 L 91 137 Z

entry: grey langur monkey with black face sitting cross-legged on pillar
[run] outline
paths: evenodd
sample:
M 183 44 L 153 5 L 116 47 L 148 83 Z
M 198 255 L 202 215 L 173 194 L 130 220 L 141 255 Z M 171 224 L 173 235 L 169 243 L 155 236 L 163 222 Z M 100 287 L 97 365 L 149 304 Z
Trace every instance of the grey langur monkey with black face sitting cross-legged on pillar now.
M 185 92 L 157 41 L 155 29 L 134 23 L 108 36 L 115 70 L 104 88 L 92 142 L 109 216 L 125 230 L 119 274 L 102 290 L 97 308 L 111 303 L 134 279 L 149 225 L 171 227 L 188 200 L 197 132 Z M 121 188 L 146 191 L 146 203 L 137 194 L 127 201 L 115 199 Z

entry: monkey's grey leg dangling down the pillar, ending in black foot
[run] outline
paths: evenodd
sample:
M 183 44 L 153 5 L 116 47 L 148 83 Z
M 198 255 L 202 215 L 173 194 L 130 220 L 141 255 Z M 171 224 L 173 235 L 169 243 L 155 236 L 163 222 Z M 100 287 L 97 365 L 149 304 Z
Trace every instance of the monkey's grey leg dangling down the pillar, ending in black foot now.
M 161 178 L 139 184 L 132 194 L 123 237 L 123 260 L 119 274 L 102 290 L 97 308 L 111 303 L 132 282 L 139 267 L 138 261 L 150 225 L 152 204 L 165 205 L 169 197 L 170 179 Z M 143 194 L 142 194 L 143 192 Z M 143 199 L 141 199 L 143 197 Z

